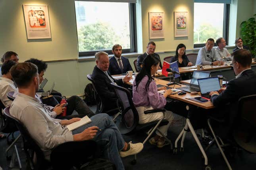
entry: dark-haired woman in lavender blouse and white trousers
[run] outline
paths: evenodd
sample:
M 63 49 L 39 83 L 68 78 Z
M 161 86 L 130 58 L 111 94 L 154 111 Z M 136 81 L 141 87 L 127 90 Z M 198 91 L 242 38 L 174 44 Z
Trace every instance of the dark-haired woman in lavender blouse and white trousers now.
M 133 103 L 139 113 L 139 123 L 148 123 L 161 119 L 162 112 L 144 114 L 145 110 L 160 109 L 166 105 L 166 97 L 171 94 L 171 89 L 166 90 L 166 87 L 157 88 L 156 82 L 152 75 L 156 73 L 159 66 L 159 59 L 154 54 L 148 55 L 143 60 L 143 67 L 133 81 Z M 158 90 L 166 90 L 164 94 L 159 94 Z M 160 127 L 159 129 L 167 136 L 167 130 L 173 120 L 173 113 L 166 111 L 165 117 L 169 123 Z M 156 131 L 156 136 L 149 140 L 150 144 L 163 147 L 168 142 L 162 135 Z

